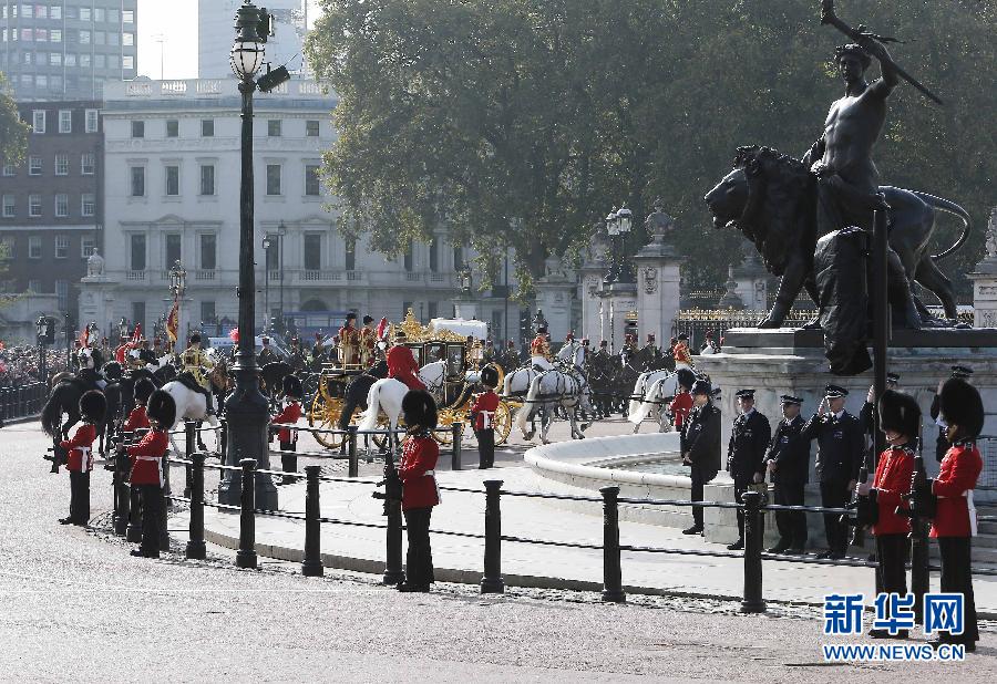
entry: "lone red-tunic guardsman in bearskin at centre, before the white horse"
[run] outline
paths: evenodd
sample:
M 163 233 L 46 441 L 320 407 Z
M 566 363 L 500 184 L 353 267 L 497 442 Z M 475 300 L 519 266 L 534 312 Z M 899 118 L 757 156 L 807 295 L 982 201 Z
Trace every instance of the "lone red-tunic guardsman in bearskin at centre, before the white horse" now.
M 398 477 L 402 481 L 402 514 L 409 537 L 405 581 L 399 591 L 429 591 L 433 583 L 433 553 L 429 526 L 433 506 L 440 502 L 435 467 L 440 445 L 433 439 L 436 402 L 424 390 L 414 390 L 402 400 L 408 437 L 402 447 Z

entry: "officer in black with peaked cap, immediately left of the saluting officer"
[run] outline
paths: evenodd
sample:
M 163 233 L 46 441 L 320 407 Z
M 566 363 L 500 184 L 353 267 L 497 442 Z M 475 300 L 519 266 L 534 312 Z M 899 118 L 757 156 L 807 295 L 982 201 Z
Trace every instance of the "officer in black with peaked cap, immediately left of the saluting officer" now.
M 800 415 L 803 400 L 790 394 L 779 397 L 782 419 L 769 443 L 765 463 L 772 474 L 777 506 L 803 506 L 803 488 L 810 481 L 810 441 L 801 436 L 805 421 Z M 802 510 L 777 510 L 779 542 L 769 553 L 803 553 L 806 547 L 806 514 Z

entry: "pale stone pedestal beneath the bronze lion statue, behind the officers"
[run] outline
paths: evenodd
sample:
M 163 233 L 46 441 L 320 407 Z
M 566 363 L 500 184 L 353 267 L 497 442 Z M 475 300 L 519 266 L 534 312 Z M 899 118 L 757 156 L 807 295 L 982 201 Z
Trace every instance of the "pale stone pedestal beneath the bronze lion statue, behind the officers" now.
M 934 457 L 937 435 L 929 408 L 938 382 L 950 375 L 950 366 L 962 364 L 974 370 L 973 384 L 980 390 L 987 419 L 985 435 L 997 434 L 997 330 L 925 330 L 896 331 L 888 353 L 888 370 L 898 373 L 900 390 L 911 394 L 921 405 L 924 418 L 922 435 L 925 464 L 929 476 L 938 471 Z M 779 396 L 802 397 L 802 415 L 809 418 L 823 398 L 824 386 L 834 383 L 849 390 L 845 408 L 857 415 L 873 383 L 872 372 L 853 377 L 839 377 L 828 372 L 822 333 L 819 330 L 736 329 L 726 333 L 722 354 L 698 356 L 698 370 L 709 374 L 713 386 L 722 388 L 721 463 L 726 464 L 730 428 L 737 415 L 738 390 L 756 390 L 756 406 L 768 416 L 772 428 L 782 417 Z M 808 505 L 819 505 L 818 478 L 813 471 L 816 445 L 811 447 L 811 475 L 806 490 Z M 991 490 L 977 490 L 977 500 L 990 498 Z M 707 500 L 732 501 L 733 485 L 726 473 L 707 485 Z M 737 522 L 732 511 L 706 511 L 707 538 L 730 541 L 737 538 Z M 711 525 L 712 522 L 712 525 Z M 825 546 L 823 521 L 818 515 L 808 516 L 810 545 Z M 771 539 L 774 520 L 765 522 L 765 537 Z

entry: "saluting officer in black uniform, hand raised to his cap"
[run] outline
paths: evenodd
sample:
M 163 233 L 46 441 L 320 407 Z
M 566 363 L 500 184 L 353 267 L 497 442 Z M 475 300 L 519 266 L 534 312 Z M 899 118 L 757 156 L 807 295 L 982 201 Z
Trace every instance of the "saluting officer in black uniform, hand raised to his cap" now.
M 859 418 L 844 410 L 849 391 L 828 385 L 818 412 L 803 426 L 803 438 L 818 441 L 816 471 L 821 483 L 821 506 L 844 508 L 859 480 L 865 452 L 865 435 Z M 824 406 L 828 412 L 824 412 Z M 849 526 L 841 514 L 824 514 L 828 550 L 818 558 L 844 558 L 849 548 Z

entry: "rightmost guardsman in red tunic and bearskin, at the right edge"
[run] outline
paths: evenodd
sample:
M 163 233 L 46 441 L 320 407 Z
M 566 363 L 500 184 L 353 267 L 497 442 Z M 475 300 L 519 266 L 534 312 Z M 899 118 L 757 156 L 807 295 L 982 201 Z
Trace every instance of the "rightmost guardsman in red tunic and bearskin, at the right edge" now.
M 976 439 L 984 426 L 983 400 L 976 387 L 965 380 L 950 377 L 942 385 L 938 412 L 947 426 L 945 436 L 952 446 L 942 459 L 938 477 L 927 480 L 926 490 L 915 490 L 915 502 L 925 497 L 937 498 L 931 536 L 938 540 L 942 552 L 942 591 L 965 597 L 963 633 L 943 632 L 937 643 L 959 643 L 966 651 L 975 651 L 979 628 L 969 553 L 977 524 L 973 490 L 983 471 L 983 458 L 976 448 Z

